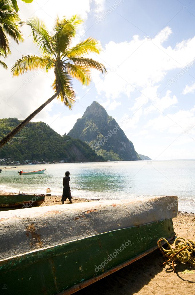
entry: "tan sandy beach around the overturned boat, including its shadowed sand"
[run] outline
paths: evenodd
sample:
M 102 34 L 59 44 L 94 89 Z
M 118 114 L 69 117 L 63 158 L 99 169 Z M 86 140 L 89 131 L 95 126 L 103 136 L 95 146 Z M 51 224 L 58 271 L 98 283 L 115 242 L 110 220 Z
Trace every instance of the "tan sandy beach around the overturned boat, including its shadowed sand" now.
M 0 194 L 5 194 L 1 191 Z M 41 206 L 61 204 L 61 196 L 46 196 Z M 91 201 L 72 198 L 73 203 Z M 69 203 L 69 201 L 66 201 Z M 195 240 L 195 214 L 178 212 L 173 219 L 177 237 Z M 77 292 L 78 295 L 180 295 L 195 294 L 195 268 L 179 263 L 174 273 L 170 264 L 162 267 L 165 258 L 159 250 Z M 185 270 L 194 273 L 182 273 Z

